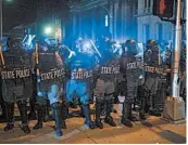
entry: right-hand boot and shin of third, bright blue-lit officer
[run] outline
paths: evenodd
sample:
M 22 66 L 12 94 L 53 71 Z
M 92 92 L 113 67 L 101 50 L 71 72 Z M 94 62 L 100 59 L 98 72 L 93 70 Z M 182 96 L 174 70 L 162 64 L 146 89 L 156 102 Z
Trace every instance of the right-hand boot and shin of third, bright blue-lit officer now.
M 93 122 L 91 121 L 91 118 L 90 118 L 89 104 L 83 105 L 82 107 L 83 107 L 83 111 L 84 111 L 84 115 L 85 115 L 85 124 L 87 124 L 90 129 L 95 129 L 95 124 L 93 124 Z

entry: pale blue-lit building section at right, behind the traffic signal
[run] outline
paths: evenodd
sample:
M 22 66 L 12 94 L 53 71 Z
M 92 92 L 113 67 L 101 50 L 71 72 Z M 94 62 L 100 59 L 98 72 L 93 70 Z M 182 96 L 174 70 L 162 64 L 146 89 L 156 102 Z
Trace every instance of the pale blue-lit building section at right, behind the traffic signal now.
M 183 0 L 183 19 L 186 18 L 186 0 Z M 155 39 L 159 42 L 174 41 L 175 39 L 175 23 L 162 21 L 159 16 L 152 14 L 153 0 L 137 0 L 137 12 L 135 17 L 137 18 L 137 41 L 146 43 L 148 39 Z M 176 4 L 174 5 L 176 10 Z M 174 11 L 174 17 L 176 17 L 176 11 Z M 174 21 L 175 22 L 175 21 Z M 185 39 L 186 24 L 183 25 L 183 39 Z

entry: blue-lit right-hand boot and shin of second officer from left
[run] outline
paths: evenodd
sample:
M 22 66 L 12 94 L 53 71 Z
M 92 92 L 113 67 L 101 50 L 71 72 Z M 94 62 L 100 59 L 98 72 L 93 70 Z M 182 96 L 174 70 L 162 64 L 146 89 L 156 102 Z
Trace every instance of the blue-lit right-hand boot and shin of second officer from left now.
M 62 136 L 63 132 L 62 132 L 62 111 L 61 111 L 61 103 L 53 103 L 52 104 L 52 110 L 53 110 L 53 117 L 55 120 L 55 131 L 54 131 L 54 135 L 55 136 Z

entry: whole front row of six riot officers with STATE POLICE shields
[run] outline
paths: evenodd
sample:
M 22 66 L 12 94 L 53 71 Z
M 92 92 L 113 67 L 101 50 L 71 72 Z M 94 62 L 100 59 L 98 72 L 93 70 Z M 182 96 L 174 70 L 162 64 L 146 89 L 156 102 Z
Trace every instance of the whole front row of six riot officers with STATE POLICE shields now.
M 100 57 L 96 57 L 85 52 L 86 48 L 83 40 L 77 42 L 74 53 L 67 51 L 66 47 L 62 47 L 62 55 L 58 51 L 49 49 L 47 42 L 39 41 L 30 58 L 22 48 L 20 40 L 9 38 L 8 50 L 1 52 L 2 96 L 5 102 L 7 114 L 4 131 L 12 130 L 14 127 L 14 103 L 17 103 L 22 117 L 22 129 L 25 133 L 30 132 L 26 100 L 32 97 L 33 80 L 37 82 L 38 121 L 34 127 L 35 130 L 42 128 L 45 107 L 49 101 L 55 121 L 54 135 L 62 136 L 62 128 L 66 128 L 67 108 L 74 100 L 80 103 L 85 124 L 90 129 L 103 128 L 102 109 L 105 113 L 104 122 L 115 127 L 111 113 L 117 83 L 120 84 L 118 94 L 124 97 L 120 101 L 123 104 L 121 122 L 127 127 L 133 127 L 131 121 L 135 121 L 136 118 L 131 115 L 131 105 L 137 98 L 139 78 L 143 72 L 145 83 L 140 96 L 139 116 L 145 120 L 146 111 L 153 110 L 152 100 L 156 95 L 160 78 L 166 76 L 166 65 L 163 66 L 161 63 L 158 43 L 154 40 L 147 42 L 143 60 L 139 60 L 134 40 L 126 41 L 124 47 L 127 51 L 124 50 L 121 57 L 113 53 L 112 45 L 113 43 L 108 37 L 101 38 L 99 43 L 101 54 Z M 67 58 L 66 53 L 72 54 L 72 56 Z M 66 66 L 68 66 L 68 71 Z M 36 79 L 33 79 L 33 74 Z M 116 82 L 120 76 L 123 76 L 124 79 Z M 91 121 L 90 117 L 91 95 L 96 96 L 95 122 Z

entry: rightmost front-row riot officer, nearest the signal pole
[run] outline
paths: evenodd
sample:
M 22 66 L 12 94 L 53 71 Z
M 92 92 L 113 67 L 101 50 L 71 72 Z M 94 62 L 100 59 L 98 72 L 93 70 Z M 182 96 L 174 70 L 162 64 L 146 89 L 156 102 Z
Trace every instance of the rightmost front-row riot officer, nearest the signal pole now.
M 145 96 L 141 98 L 142 101 L 140 117 L 146 119 L 146 111 L 151 113 L 154 110 L 153 101 L 156 97 L 156 91 L 159 88 L 159 81 L 161 77 L 161 74 L 154 70 L 155 68 L 161 67 L 161 55 L 155 40 L 148 40 L 147 49 L 143 53 L 143 61 L 146 70 L 143 84 Z

